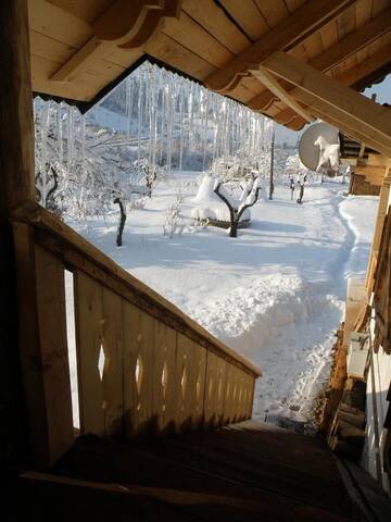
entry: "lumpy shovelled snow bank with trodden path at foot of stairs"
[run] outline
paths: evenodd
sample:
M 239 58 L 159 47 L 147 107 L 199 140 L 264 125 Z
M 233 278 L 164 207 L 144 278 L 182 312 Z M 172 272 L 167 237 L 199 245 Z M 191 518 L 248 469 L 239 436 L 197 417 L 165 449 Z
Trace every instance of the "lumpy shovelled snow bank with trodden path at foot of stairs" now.
M 333 331 L 343 302 L 325 295 L 325 284 L 299 274 L 260 277 L 195 312 L 213 335 L 263 368 L 254 415 L 308 422 L 314 399 L 330 370 Z

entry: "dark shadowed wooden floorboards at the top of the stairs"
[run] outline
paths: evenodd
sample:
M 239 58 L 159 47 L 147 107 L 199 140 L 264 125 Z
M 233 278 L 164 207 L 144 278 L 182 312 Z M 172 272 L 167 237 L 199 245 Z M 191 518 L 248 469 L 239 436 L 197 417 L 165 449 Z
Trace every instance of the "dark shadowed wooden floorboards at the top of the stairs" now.
M 123 511 L 131 517 L 126 520 L 146 521 L 351 520 L 328 449 L 262 423 L 137 444 L 84 437 L 55 474 L 54 484 L 21 480 L 21 509 L 31 513 L 46 506 L 45 512 L 54 512 L 61 504 L 64 519 L 56 520 L 72 510 L 84 520 L 104 520 L 100 517 L 110 511 L 111 520 L 125 520 Z

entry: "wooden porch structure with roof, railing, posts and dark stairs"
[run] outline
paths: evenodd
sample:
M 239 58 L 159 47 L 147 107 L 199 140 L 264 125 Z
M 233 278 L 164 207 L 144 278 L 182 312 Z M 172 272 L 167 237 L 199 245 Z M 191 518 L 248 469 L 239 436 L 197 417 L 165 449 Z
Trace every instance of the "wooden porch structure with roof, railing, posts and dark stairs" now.
M 20 495 L 21 520 L 65 520 L 72 509 L 98 520 L 354 520 L 350 474 L 341 480 L 320 443 L 242 422 L 257 368 L 34 202 L 31 100 L 85 111 L 148 59 L 292 129 L 321 119 L 377 152 L 368 163 L 381 171 L 380 204 L 363 299 L 375 311 L 368 405 L 377 435 L 367 468 L 387 487 L 391 113 L 360 90 L 391 72 L 391 1 L 3 0 L 0 21 L 5 499 Z M 99 437 L 81 442 L 65 270 L 75 278 L 80 434 Z M 355 318 L 348 323 L 354 330 Z M 189 431 L 166 446 L 112 442 Z

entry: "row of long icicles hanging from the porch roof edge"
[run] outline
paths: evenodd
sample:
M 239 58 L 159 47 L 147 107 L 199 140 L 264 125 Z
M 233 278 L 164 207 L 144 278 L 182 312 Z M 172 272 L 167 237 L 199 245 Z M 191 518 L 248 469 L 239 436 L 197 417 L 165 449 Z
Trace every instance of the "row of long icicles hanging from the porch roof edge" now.
M 198 170 L 210 169 L 220 158 L 234 158 L 243 165 L 270 150 L 270 120 L 149 62 L 133 72 L 101 104 L 122 113 L 121 128 L 115 129 L 111 141 L 106 140 L 106 147 L 127 147 L 130 161 L 147 158 L 152 170 L 156 164 L 168 173 L 187 170 L 194 157 L 199 159 Z M 48 144 L 54 135 L 60 167 L 71 171 L 77 164 L 83 176 L 86 147 L 97 141 L 96 122 L 101 126 L 104 123 L 99 117 L 99 105 L 81 114 L 64 102 L 38 99 L 35 110 L 39 116 L 37 169 L 42 169 L 53 154 L 53 146 L 48 150 Z M 45 179 L 42 184 L 45 192 Z

